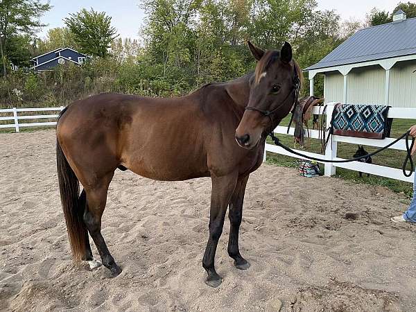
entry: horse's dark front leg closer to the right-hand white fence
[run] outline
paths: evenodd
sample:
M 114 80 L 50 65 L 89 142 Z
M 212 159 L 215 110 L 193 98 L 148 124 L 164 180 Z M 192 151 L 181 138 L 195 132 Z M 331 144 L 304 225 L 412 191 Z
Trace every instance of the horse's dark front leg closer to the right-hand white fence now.
M 248 175 L 240 178 L 237 181 L 236 189 L 232 194 L 229 202 L 228 218 L 230 223 L 229 240 L 228 240 L 228 254 L 234 259 L 234 266 L 240 270 L 247 270 L 250 268 L 250 263 L 241 257 L 239 250 L 239 229 L 241 225 L 241 218 L 243 217 L 243 200 L 245 193 L 245 186 L 247 185 Z

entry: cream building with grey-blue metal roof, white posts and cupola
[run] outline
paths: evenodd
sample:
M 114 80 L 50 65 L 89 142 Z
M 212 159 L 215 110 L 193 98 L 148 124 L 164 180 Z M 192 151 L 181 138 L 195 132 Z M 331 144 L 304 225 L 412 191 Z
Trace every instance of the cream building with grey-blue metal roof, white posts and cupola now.
M 416 18 L 398 10 L 388 24 L 364 28 L 304 69 L 324 76 L 325 102 L 416 107 Z

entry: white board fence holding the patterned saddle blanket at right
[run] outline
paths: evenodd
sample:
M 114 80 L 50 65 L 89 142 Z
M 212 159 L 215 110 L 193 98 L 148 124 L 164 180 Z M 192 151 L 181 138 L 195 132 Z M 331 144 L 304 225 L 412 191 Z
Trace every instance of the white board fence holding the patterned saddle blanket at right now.
M 332 116 L 333 106 L 336 103 L 328 103 L 327 105 L 327 116 Z M 322 115 L 323 107 L 314 107 L 313 114 L 320 114 Z M 416 119 L 416 108 L 401 108 L 401 107 L 390 107 L 388 112 L 389 118 L 395 119 Z M 327 128 L 329 128 L 329 123 L 331 122 L 330 118 L 327 118 Z M 289 134 L 293 135 L 295 128 L 291 128 Z M 275 128 L 276 134 L 284 134 L 286 135 L 287 127 L 278 126 Z M 325 135 L 327 137 L 328 134 Z M 320 134 L 318 130 L 309 130 L 309 136 L 315 139 L 320 138 Z M 332 142 L 331 142 L 332 141 Z M 332 159 L 332 160 L 342 160 L 343 158 L 336 157 L 337 155 L 337 146 L 338 142 L 345 142 L 349 144 L 363 144 L 367 146 L 375 146 L 377 148 L 386 146 L 387 144 L 395 141 L 393 138 L 385 138 L 385 139 L 364 139 L 358 137 L 341 137 L 339 135 L 333 135 L 332 140 L 329 140 L 328 146 L 325 150 L 325 155 L 309 153 L 304 150 L 296 150 L 299 153 L 302 153 L 307 156 L 311 157 L 318 157 L 323 159 Z M 410 143 L 409 143 L 410 146 Z M 397 144 L 390 146 L 390 148 L 395 150 L 406 150 L 406 141 L 401 139 Z M 288 151 L 284 150 L 279 146 L 274 146 L 270 144 L 266 144 L 266 153 L 278 153 L 281 155 L 288 155 L 291 157 L 299 156 L 289 153 Z M 265 153 L 265 154 L 266 154 Z M 383 153 L 383 152 L 381 152 Z M 364 162 L 347 162 L 347 163 L 325 163 L 325 175 L 335 175 L 336 167 L 340 168 L 347 168 L 354 171 L 361 171 L 363 173 L 370 173 L 372 175 L 380 175 L 382 177 L 391 177 L 392 179 L 402 180 L 406 182 L 413 182 L 413 175 L 410 177 L 405 177 L 401 169 L 397 168 L 390 168 L 387 166 L 379 166 L 375 164 L 366 164 Z

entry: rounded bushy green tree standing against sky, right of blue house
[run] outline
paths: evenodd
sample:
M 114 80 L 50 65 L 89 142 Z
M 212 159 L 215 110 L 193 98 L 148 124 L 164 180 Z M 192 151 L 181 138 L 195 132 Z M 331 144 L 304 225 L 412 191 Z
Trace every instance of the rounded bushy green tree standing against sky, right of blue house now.
M 76 44 L 83 53 L 104 58 L 112 41 L 118 36 L 116 28 L 111 26 L 111 17 L 105 12 L 96 12 L 83 8 L 64 19 Z

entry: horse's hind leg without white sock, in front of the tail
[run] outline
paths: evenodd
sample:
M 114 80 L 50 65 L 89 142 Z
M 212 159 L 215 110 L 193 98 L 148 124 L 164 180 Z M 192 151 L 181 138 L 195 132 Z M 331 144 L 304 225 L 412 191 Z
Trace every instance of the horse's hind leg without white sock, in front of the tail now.
M 89 234 L 91 235 L 98 253 L 101 256 L 103 265 L 110 269 L 112 275 L 116 276 L 121 273 L 121 268 L 116 265 L 107 245 L 105 244 L 103 235 L 101 235 L 101 217 L 107 202 L 107 190 L 112 179 L 111 175 L 101 179 L 94 187 L 86 189 L 87 207 L 84 211 L 84 222 L 87 225 Z

